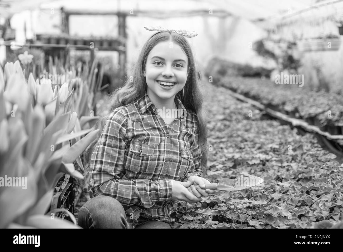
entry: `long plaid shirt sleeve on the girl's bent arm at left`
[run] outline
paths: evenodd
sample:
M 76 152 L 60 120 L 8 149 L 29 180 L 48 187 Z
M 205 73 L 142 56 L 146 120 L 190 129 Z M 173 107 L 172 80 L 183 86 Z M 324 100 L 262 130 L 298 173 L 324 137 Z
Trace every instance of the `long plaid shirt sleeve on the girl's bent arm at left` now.
M 127 145 L 127 118 L 115 110 L 107 119 L 90 162 L 90 197 L 111 196 L 123 205 L 137 202 L 146 208 L 154 201 L 169 201 L 172 196 L 169 179 L 121 179 Z

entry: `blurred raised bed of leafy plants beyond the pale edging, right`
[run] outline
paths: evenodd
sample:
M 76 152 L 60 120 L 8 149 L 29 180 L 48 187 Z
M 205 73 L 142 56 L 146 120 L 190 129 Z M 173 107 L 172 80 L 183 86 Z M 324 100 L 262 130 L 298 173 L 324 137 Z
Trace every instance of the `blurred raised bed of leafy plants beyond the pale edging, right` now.
M 275 84 L 269 79 L 224 76 L 215 85 L 224 86 L 241 95 L 257 100 L 267 107 L 305 119 L 309 124 L 330 134 L 342 134 L 343 97 L 324 91 L 310 91 L 294 84 Z

